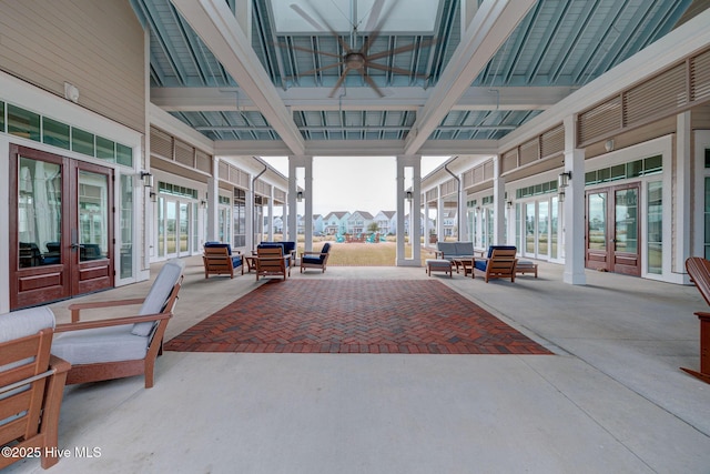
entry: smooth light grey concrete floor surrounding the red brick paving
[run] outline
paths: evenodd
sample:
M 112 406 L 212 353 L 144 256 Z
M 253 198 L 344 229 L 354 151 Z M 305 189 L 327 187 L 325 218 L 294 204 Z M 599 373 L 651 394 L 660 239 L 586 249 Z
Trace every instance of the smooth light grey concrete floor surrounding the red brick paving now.
M 168 352 L 153 389 L 131 377 L 65 390 L 71 457 L 52 472 L 709 473 L 710 385 L 678 369 L 699 365 L 698 291 L 591 271 L 571 286 L 561 272 L 541 263 L 539 279 L 514 284 L 432 276 L 556 355 Z M 199 258 L 185 274 L 168 339 L 262 284 L 204 280 Z M 329 266 L 293 278 L 428 276 Z M 67 304 L 52 305 L 59 322 Z M 78 456 L 94 447 L 100 456 Z

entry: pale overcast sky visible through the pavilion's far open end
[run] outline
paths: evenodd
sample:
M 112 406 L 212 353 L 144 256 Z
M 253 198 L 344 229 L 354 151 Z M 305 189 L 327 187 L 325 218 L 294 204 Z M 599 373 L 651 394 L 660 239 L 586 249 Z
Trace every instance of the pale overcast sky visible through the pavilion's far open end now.
M 448 158 L 422 157 L 422 177 Z M 263 160 L 288 175 L 286 157 Z M 379 211 L 396 211 L 396 172 L 395 157 L 314 157 L 313 213 L 367 211 L 375 215 Z M 303 177 L 297 182 L 303 186 Z M 303 204 L 298 212 L 303 212 Z

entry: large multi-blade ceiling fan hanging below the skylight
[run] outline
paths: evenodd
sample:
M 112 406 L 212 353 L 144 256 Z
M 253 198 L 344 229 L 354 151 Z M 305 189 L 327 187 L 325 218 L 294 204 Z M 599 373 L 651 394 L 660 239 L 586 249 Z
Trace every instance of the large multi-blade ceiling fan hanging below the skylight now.
M 367 85 L 369 85 L 375 91 L 375 93 L 377 93 L 377 95 L 379 95 L 382 98 L 385 94 L 377 87 L 377 84 L 375 84 L 375 81 L 369 77 L 369 74 L 367 73 L 367 69 L 377 69 L 377 70 L 381 70 L 381 71 L 396 72 L 398 74 L 414 75 L 414 77 L 419 78 L 419 79 L 427 79 L 427 75 L 425 75 L 425 74 L 413 73 L 412 71 L 407 71 L 407 70 L 402 69 L 402 68 L 395 68 L 395 67 L 392 67 L 392 65 L 384 65 L 384 64 L 379 64 L 379 63 L 377 63 L 375 61 L 378 60 L 378 59 L 382 59 L 382 58 L 386 58 L 386 57 L 389 57 L 389 56 L 398 54 L 400 52 L 412 51 L 415 48 L 424 48 L 424 47 L 430 46 L 430 44 L 436 42 L 436 38 L 432 38 L 429 40 L 420 41 L 418 43 L 415 42 L 415 43 L 412 43 L 412 44 L 405 44 L 405 46 L 402 46 L 402 47 L 398 47 L 398 48 L 394 48 L 394 49 L 390 49 L 390 50 L 387 50 L 387 51 L 382 51 L 382 52 L 376 52 L 376 53 L 371 54 L 369 53 L 369 48 L 375 42 L 375 40 L 379 37 L 379 33 L 381 33 L 381 30 L 382 30 L 382 26 L 383 26 L 384 21 L 386 20 L 387 16 L 389 14 L 389 12 L 392 11 L 392 9 L 394 8 L 396 2 L 397 2 L 397 0 L 392 1 L 389 3 L 389 8 L 387 9 L 387 11 L 385 11 L 385 13 L 382 14 L 382 10 L 383 10 L 383 8 L 385 6 L 385 0 L 375 0 L 375 3 L 373 4 L 372 9 L 369 10 L 369 14 L 367 17 L 367 23 L 366 23 L 365 29 L 364 29 L 364 31 L 369 31 L 369 34 L 367 37 L 363 36 L 363 41 L 362 41 L 362 44 L 359 47 L 358 47 L 358 39 L 357 39 L 358 27 L 364 21 L 365 17 L 363 17 L 361 20 L 358 20 L 356 18 L 357 17 L 356 16 L 356 6 L 357 6 L 357 1 L 356 0 L 354 0 L 354 3 L 353 3 L 353 13 L 352 13 L 353 18 L 352 18 L 352 20 L 348 20 L 349 23 L 351 23 L 351 28 L 352 28 L 349 44 L 341 37 L 341 34 L 338 34 L 318 14 L 317 9 L 315 9 L 310 2 L 308 2 L 310 9 L 314 11 L 314 14 L 316 17 L 318 17 L 320 21 L 316 21 L 311 14 L 308 14 L 300 6 L 297 6 L 295 3 L 291 3 L 291 9 L 294 10 L 296 13 L 298 13 L 305 21 L 307 21 L 316 30 L 324 31 L 323 26 L 322 26 L 322 24 L 324 24 L 327 28 L 327 30 L 331 32 L 331 34 L 333 34 L 333 37 L 335 37 L 335 39 L 337 40 L 338 44 L 341 46 L 341 48 L 343 49 L 344 52 L 342 54 L 336 54 L 336 53 L 328 52 L 328 51 L 316 51 L 316 50 L 313 50 L 313 49 L 303 48 L 303 47 L 298 47 L 298 46 L 295 46 L 295 44 L 283 44 L 283 43 L 281 43 L 280 46 L 282 48 L 291 48 L 291 49 L 298 50 L 298 51 L 306 51 L 306 52 L 311 52 L 313 54 L 320 54 L 320 56 L 325 56 L 325 57 L 338 59 L 338 62 L 336 62 L 336 63 L 323 65 L 321 68 L 316 68 L 316 69 L 312 69 L 310 71 L 301 72 L 298 74 L 298 75 L 308 75 L 308 74 L 314 74 L 316 72 L 324 71 L 326 69 L 343 67 L 343 71 L 341 72 L 341 77 L 338 78 L 337 82 L 335 83 L 335 85 L 331 90 L 331 93 L 328 94 L 328 97 L 333 97 L 335 94 L 337 89 L 345 81 L 345 77 L 351 71 L 357 71 L 359 73 L 359 75 L 363 78 L 363 80 L 365 81 L 365 83 L 367 83 Z

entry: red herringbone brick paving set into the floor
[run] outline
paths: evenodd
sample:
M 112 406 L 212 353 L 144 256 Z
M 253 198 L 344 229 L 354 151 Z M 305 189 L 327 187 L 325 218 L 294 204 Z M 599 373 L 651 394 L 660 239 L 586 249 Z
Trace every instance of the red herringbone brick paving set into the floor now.
M 172 339 L 165 349 L 550 354 L 435 280 L 270 281 Z

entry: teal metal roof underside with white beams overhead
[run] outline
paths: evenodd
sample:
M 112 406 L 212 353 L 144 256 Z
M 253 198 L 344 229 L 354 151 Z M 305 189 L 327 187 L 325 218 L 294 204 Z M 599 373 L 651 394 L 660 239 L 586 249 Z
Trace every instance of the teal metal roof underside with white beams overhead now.
M 363 147 L 372 148 L 383 141 L 408 143 L 415 139 L 409 135 L 416 135 L 413 128 L 426 132 L 427 150 L 444 141 L 466 141 L 462 150 L 467 150 L 475 149 L 477 140 L 499 140 L 667 34 L 692 3 L 528 0 L 531 7 L 521 7 L 527 12 L 505 31 L 485 64 L 478 64 L 477 75 L 470 81 L 464 78 L 463 94 L 453 98 L 453 105 L 445 103 L 446 109 L 436 111 L 439 115 L 433 114 L 432 119 L 424 118 L 424 112 L 435 109 L 427 100 L 433 94 L 445 95 L 444 89 L 456 83 L 456 61 L 466 58 L 457 48 L 459 43 L 473 44 L 466 43 L 469 32 L 462 31 L 462 11 L 478 8 L 481 13 L 493 11 L 488 10 L 489 3 L 508 2 L 465 1 L 463 6 L 460 0 L 427 0 L 436 14 L 432 31 L 383 28 L 373 34 L 363 31 L 365 23 L 373 27 L 372 21 L 377 19 L 367 17 L 372 13 L 367 8 L 382 8 L 381 17 L 389 14 L 394 20 L 398 11 L 405 11 L 414 16 L 413 24 L 417 9 L 398 7 L 409 0 L 250 1 L 251 38 L 240 32 L 239 38 L 244 40 L 240 43 L 237 38 L 234 57 L 241 62 L 234 65 L 232 53 L 215 46 L 220 39 L 213 37 L 215 28 L 192 18 L 192 7 L 185 7 L 187 0 L 131 0 L 150 32 L 151 101 L 215 142 L 248 142 L 253 148 L 254 141 L 283 141 L 284 149 L 293 154 L 308 150 L 313 142 L 325 142 L 318 150 L 337 149 L 343 140 L 362 141 Z M 240 14 L 236 2 L 193 1 L 226 11 L 233 16 L 230 20 Z M 514 10 L 518 0 L 510 3 L 514 6 L 508 10 Z M 320 10 L 337 8 L 351 27 L 359 21 L 359 29 L 333 34 L 325 24 L 324 31 L 314 27 L 313 31 L 281 32 L 274 9 L 282 14 L 285 4 L 285 13 L 300 10 L 302 19 L 321 24 L 327 20 Z M 348 12 L 356 11 L 354 7 L 361 7 L 362 14 L 355 21 L 347 18 Z M 210 14 L 205 14 L 207 20 Z M 476 17 L 470 24 L 476 24 Z M 227 40 L 234 44 L 234 40 Z M 345 64 L 338 63 L 347 48 L 354 51 L 365 44 L 374 59 L 364 73 L 349 70 L 342 78 Z M 270 83 L 263 84 L 264 78 Z M 247 85 L 252 80 L 255 85 Z M 334 90 L 335 85 L 338 88 Z M 260 93 L 254 94 L 254 90 Z M 426 120 L 435 122 L 427 129 Z

